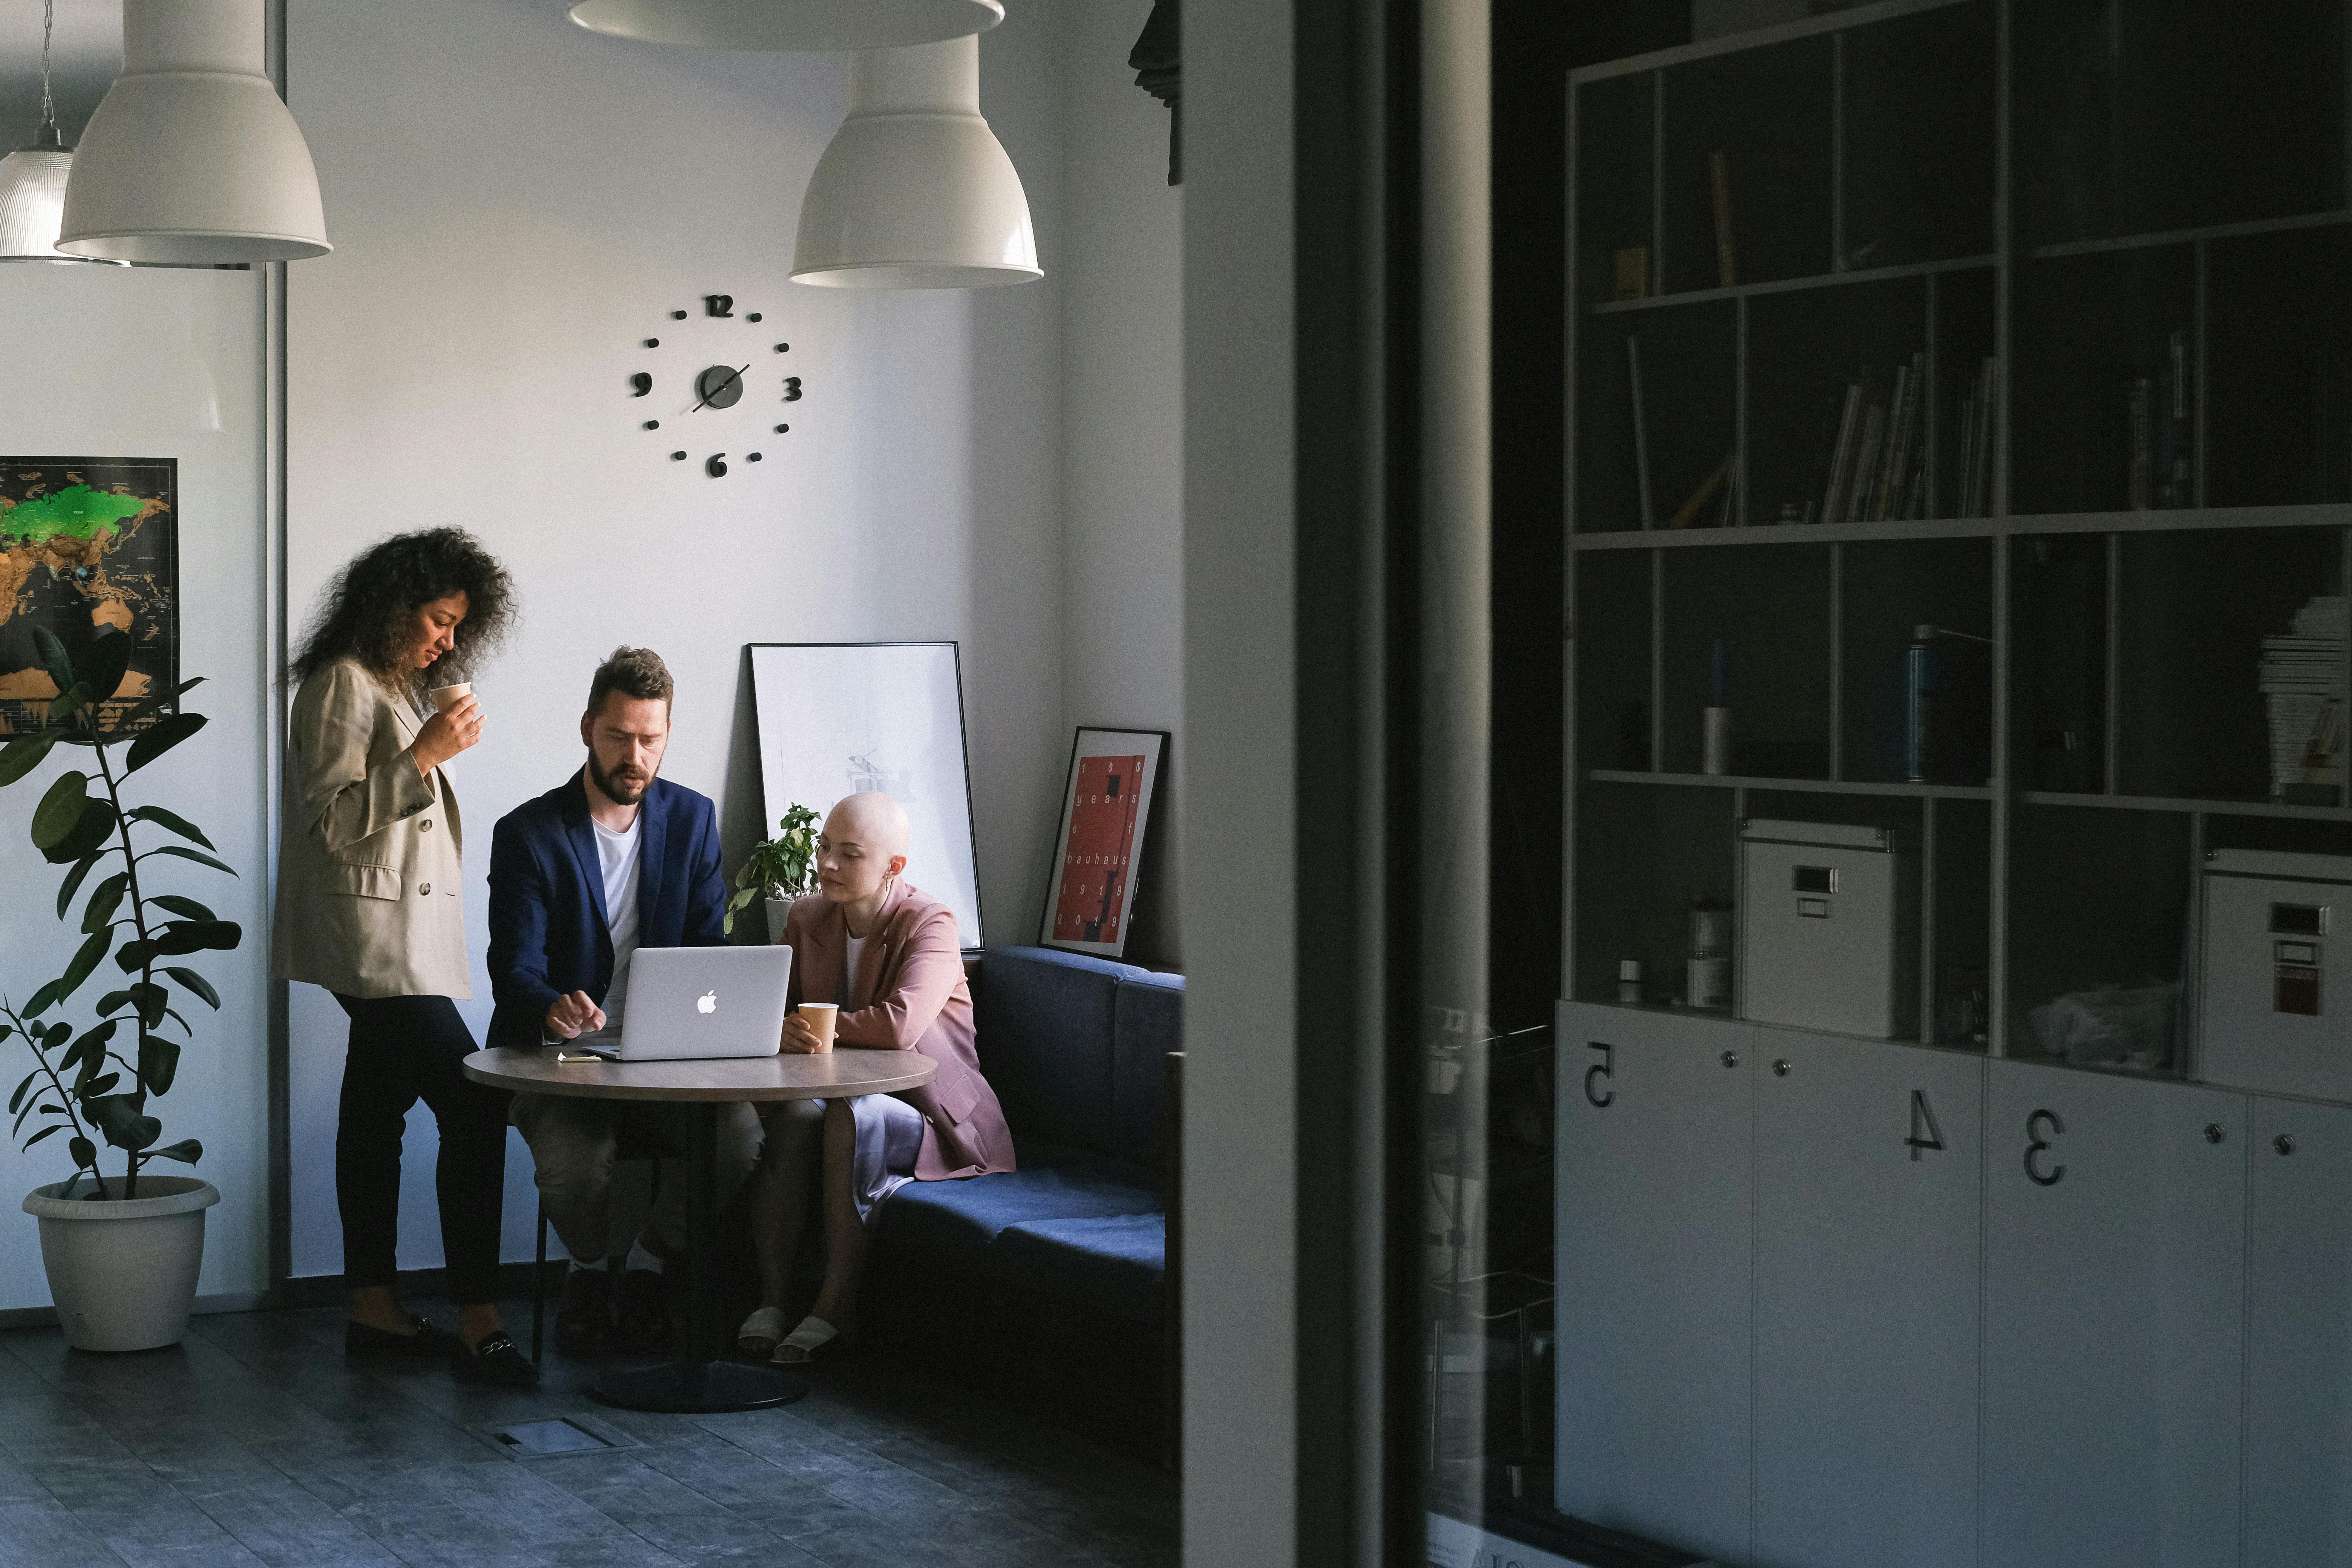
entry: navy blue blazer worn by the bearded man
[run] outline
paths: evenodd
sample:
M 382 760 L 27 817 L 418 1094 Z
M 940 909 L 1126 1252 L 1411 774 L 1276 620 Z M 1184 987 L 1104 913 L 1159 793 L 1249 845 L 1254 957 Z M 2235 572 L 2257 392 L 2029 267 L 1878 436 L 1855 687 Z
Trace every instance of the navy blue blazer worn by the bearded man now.
M 708 795 L 656 778 L 637 809 L 637 945 L 727 943 L 720 813 Z M 604 867 L 581 773 L 527 799 L 489 835 L 492 1046 L 536 1046 L 557 997 L 612 985 Z

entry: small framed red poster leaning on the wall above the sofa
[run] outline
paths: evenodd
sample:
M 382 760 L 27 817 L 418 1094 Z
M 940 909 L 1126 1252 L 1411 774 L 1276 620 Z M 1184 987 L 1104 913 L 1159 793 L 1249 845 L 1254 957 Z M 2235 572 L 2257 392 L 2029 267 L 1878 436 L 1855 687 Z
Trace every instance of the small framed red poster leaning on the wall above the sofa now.
M 1047 879 L 1042 947 L 1127 954 L 1136 912 L 1136 867 L 1152 825 L 1164 729 L 1084 729 L 1070 743 L 1061 790 L 1061 832 Z

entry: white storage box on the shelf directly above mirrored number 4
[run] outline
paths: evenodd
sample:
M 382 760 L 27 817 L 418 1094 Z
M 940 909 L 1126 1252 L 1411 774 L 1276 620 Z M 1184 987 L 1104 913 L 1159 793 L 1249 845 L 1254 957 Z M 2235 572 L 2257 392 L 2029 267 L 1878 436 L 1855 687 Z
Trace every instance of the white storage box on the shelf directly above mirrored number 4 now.
M 1740 1018 L 1907 1039 L 1919 853 L 1889 827 L 1740 823 Z

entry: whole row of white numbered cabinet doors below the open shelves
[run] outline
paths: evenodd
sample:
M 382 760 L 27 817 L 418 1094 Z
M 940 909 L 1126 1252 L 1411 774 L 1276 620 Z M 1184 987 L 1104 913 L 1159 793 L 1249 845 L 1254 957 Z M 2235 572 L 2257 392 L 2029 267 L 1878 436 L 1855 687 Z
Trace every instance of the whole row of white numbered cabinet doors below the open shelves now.
M 1755 1568 L 2352 1563 L 2352 1107 L 1557 1039 L 1562 1512 Z

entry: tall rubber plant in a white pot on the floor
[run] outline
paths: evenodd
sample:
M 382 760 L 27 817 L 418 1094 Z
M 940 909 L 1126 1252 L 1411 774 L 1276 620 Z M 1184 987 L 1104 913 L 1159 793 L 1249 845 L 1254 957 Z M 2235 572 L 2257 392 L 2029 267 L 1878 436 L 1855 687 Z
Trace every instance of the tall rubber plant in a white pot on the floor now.
M 165 1143 L 153 1114 L 195 1034 L 176 1004 L 193 997 L 221 1006 L 212 983 L 181 959 L 242 940 L 235 922 L 193 898 L 160 893 L 153 882 L 172 860 L 230 877 L 235 870 L 188 818 L 125 802 L 132 773 L 205 726 L 205 715 L 176 710 L 202 677 L 106 715 L 129 670 L 129 635 L 106 630 L 80 658 L 47 628 L 35 628 L 33 639 L 56 698 L 45 729 L 0 748 L 0 788 L 21 783 L 59 748 L 87 755 L 87 769 L 49 780 L 31 816 L 33 846 L 64 867 L 56 917 L 75 922 L 82 943 L 64 973 L 21 1001 L 0 992 L 0 1044 L 19 1039 L 33 1056 L 33 1070 L 7 1098 L 9 1133 L 26 1150 L 64 1138 L 73 1161 L 71 1178 L 35 1187 L 24 1201 L 40 1220 L 40 1260 L 68 1342 L 153 1349 L 179 1342 L 188 1328 L 205 1211 L 221 1201 L 195 1175 L 146 1173 L 155 1159 L 193 1166 L 205 1154 L 195 1138 Z M 78 1030 L 59 1013 L 108 961 L 122 983 L 89 1004 L 89 1023 Z M 118 1173 L 99 1168 L 106 1150 L 115 1152 L 106 1164 Z

